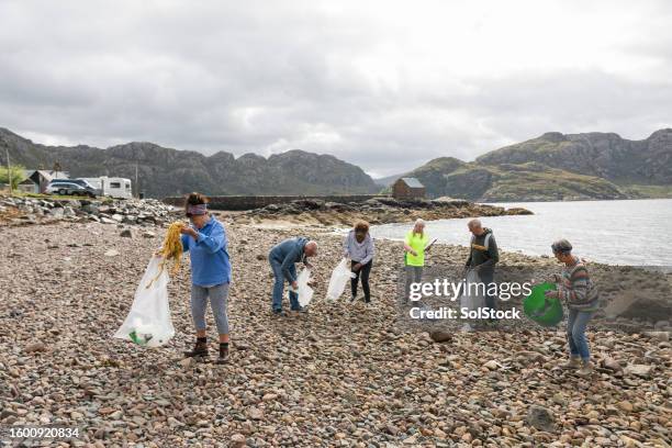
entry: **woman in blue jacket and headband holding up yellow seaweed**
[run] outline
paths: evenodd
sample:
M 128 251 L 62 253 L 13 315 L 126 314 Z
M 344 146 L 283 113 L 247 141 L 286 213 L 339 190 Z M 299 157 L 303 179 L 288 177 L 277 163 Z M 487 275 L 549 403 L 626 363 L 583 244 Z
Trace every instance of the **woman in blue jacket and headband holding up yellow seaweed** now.
M 191 193 L 184 203 L 191 226 L 182 228 L 182 248 L 191 257 L 191 316 L 197 329 L 195 347 L 186 351 L 188 357 L 206 357 L 205 307 L 215 317 L 220 334 L 217 363 L 228 360 L 228 285 L 231 261 L 226 246 L 226 232 L 222 223 L 208 213 L 208 198 Z

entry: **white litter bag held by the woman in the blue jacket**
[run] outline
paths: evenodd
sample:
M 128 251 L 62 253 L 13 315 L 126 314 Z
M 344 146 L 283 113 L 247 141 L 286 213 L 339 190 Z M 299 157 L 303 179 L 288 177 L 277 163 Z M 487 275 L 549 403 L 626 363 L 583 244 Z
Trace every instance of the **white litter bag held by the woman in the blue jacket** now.
M 168 306 L 168 269 L 159 270 L 163 258 L 154 256 L 135 290 L 131 312 L 114 337 L 147 347 L 159 347 L 175 335 Z

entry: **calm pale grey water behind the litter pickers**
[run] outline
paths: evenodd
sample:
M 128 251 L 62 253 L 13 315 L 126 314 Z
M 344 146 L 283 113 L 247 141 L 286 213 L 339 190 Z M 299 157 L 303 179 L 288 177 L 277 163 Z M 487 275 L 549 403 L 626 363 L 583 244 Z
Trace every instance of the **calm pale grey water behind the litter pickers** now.
M 502 250 L 551 255 L 555 239 L 567 238 L 574 253 L 608 265 L 672 266 L 672 199 L 637 201 L 519 202 L 534 215 L 483 217 Z M 468 245 L 469 219 L 427 222 L 427 233 L 441 243 Z M 377 238 L 402 239 L 412 224 L 371 228 Z

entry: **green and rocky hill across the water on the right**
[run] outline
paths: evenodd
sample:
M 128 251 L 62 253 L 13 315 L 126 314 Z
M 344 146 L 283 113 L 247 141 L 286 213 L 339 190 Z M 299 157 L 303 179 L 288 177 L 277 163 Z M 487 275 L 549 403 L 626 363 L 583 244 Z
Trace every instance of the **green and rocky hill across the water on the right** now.
M 418 178 L 433 198 L 496 202 L 672 197 L 672 130 L 643 141 L 547 133 L 473 163 L 437 158 L 405 176 Z

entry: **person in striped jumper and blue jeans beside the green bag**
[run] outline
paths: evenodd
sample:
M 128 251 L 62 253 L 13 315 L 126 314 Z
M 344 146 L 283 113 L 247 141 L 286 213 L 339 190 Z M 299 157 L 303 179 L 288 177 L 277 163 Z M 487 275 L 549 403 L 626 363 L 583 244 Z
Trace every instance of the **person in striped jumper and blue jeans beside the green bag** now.
M 597 311 L 597 289 L 589 276 L 585 265 L 579 257 L 572 255 L 572 245 L 567 239 L 558 239 L 551 245 L 556 258 L 564 264 L 561 275 L 555 275 L 556 291 L 547 291 L 547 298 L 559 298 L 567 303 L 567 341 L 570 348 L 570 359 L 563 367 L 580 368 L 576 372 L 587 377 L 592 372 L 591 354 L 589 350 L 585 328 Z

